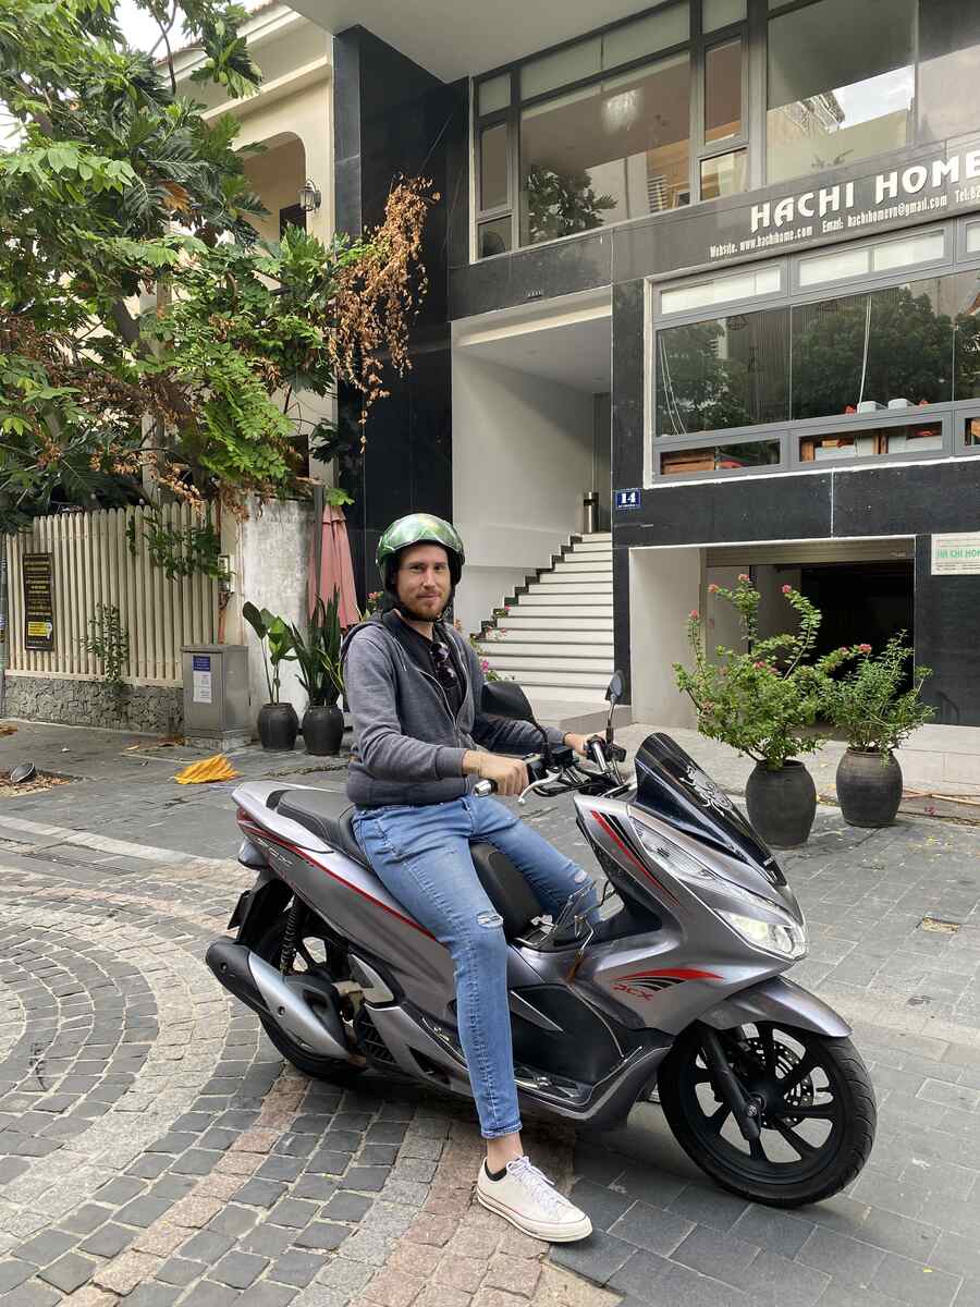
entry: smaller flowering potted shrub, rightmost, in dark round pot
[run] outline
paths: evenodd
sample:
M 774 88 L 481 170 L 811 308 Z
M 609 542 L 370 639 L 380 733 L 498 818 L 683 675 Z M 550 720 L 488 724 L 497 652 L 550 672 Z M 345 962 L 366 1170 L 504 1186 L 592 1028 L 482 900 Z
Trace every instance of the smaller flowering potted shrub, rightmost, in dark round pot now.
M 857 661 L 841 677 L 827 677 L 823 714 L 847 740 L 838 765 L 838 800 L 848 826 L 890 826 L 902 802 L 902 767 L 892 753 L 933 716 L 919 698 L 932 669 L 912 667 L 912 684 L 902 690 L 913 650 L 906 633 L 892 635 L 881 654 L 856 644 Z

